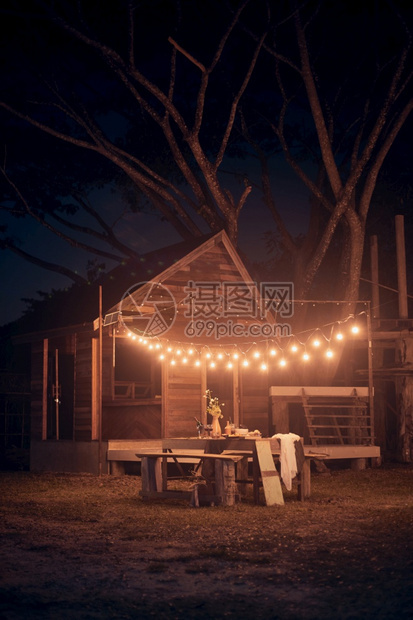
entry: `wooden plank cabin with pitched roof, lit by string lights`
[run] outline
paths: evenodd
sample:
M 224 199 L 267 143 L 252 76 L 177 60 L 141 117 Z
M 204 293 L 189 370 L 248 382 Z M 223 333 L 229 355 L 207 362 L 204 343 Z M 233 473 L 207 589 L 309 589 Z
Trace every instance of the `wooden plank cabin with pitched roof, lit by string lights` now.
M 224 425 L 280 430 L 267 364 L 288 337 L 292 291 L 263 302 L 223 231 L 168 263 L 157 254 L 127 282 L 115 270 L 117 302 L 94 321 L 30 336 L 32 470 L 106 473 L 108 446 L 195 436 L 195 418 L 211 422 L 207 389 Z

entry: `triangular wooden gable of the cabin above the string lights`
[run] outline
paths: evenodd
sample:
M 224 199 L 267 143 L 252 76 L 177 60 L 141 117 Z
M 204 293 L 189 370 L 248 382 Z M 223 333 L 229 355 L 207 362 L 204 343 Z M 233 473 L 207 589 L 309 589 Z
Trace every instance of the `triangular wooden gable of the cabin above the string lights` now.
M 258 300 L 255 283 L 221 231 L 151 280 L 130 287 L 106 317 L 119 313 L 123 328 L 141 337 L 214 346 L 217 330 L 219 345 L 233 340 L 224 334 L 229 322 L 260 322 L 254 314 Z M 207 321 L 209 329 L 201 329 Z

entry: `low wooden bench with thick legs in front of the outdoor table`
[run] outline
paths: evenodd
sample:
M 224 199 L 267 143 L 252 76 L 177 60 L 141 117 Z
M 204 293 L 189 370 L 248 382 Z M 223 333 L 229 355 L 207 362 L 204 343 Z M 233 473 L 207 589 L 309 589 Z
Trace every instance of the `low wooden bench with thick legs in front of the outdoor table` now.
M 235 482 L 235 464 L 245 455 L 192 452 L 137 452 L 141 459 L 143 499 L 189 499 L 191 505 L 233 506 L 239 501 Z M 202 485 L 194 484 L 192 491 L 173 491 L 167 488 L 167 461 L 190 460 L 203 463 Z M 205 488 L 202 488 L 205 487 Z

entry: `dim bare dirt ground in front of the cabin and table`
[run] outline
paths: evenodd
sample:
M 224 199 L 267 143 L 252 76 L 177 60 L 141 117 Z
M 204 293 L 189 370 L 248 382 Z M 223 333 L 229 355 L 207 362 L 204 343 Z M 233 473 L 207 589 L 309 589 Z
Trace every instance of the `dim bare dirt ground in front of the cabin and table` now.
M 0 475 L 1 619 L 413 617 L 411 466 L 198 509 L 137 476 Z

